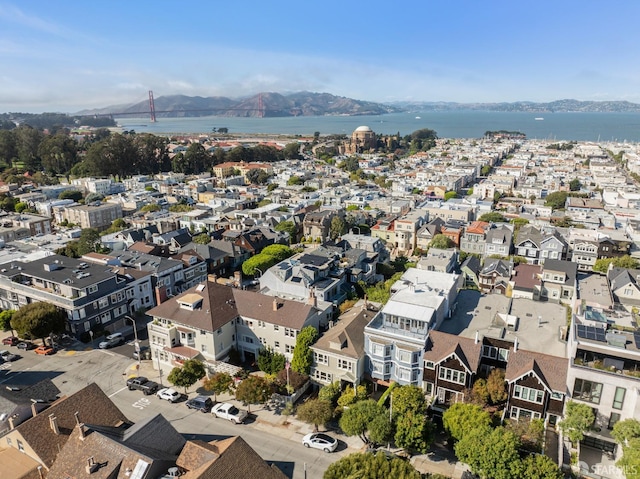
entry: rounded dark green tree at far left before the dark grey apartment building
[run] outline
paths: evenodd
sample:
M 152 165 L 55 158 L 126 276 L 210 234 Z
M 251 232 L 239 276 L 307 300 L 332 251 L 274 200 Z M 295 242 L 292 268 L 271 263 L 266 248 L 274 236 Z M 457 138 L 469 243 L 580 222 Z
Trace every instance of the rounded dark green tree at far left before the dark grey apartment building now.
M 51 333 L 61 333 L 67 323 L 67 315 L 51 303 L 30 303 L 13 313 L 11 328 L 21 338 L 44 338 Z

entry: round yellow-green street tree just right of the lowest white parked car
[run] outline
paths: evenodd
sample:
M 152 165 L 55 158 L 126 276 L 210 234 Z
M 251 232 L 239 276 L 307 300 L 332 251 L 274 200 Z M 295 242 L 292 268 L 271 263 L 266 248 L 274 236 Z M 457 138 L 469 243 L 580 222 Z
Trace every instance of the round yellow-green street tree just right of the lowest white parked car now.
M 340 429 L 347 436 L 358 436 L 365 444 L 381 444 L 391 434 L 388 414 L 385 407 L 372 399 L 359 401 L 342 413 Z

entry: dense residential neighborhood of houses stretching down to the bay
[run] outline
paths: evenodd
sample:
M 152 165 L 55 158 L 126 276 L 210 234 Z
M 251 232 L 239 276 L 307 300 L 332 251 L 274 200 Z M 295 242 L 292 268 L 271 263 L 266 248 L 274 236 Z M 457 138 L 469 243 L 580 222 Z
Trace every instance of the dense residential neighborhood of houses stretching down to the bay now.
M 302 477 L 257 452 L 278 429 L 287 454 L 325 454 L 310 477 L 382 447 L 491 478 L 450 426 L 463 407 L 544 477 L 630 472 L 636 436 L 616 424 L 640 431 L 640 148 L 430 141 L 398 156 L 368 126 L 185 136 L 167 140 L 171 171 L 3 177 L 0 319 L 20 358 L 0 362 L 0 475 Z M 398 409 L 409 394 L 420 406 Z M 229 437 L 222 401 L 246 410 Z

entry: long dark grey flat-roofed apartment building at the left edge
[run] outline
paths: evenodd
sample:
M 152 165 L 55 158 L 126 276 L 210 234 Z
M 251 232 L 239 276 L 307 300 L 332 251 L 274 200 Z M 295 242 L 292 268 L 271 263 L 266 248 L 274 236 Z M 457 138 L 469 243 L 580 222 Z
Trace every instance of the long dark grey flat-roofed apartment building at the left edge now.
M 137 294 L 132 285 L 137 288 L 149 281 L 58 255 L 5 266 L 0 270 L 3 309 L 38 301 L 55 304 L 67 313 L 67 331 L 77 337 L 96 328 L 128 326 L 125 316 L 133 312 L 129 305 Z

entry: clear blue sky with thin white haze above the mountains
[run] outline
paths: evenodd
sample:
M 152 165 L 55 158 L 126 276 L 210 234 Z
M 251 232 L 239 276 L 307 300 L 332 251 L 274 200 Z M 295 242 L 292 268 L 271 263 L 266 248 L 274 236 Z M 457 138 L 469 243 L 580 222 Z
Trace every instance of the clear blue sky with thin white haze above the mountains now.
M 0 0 L 0 112 L 328 92 L 640 103 L 640 2 Z

